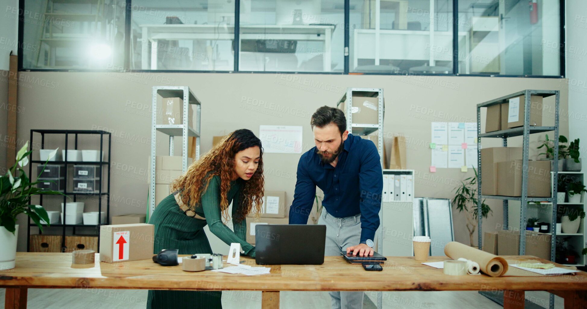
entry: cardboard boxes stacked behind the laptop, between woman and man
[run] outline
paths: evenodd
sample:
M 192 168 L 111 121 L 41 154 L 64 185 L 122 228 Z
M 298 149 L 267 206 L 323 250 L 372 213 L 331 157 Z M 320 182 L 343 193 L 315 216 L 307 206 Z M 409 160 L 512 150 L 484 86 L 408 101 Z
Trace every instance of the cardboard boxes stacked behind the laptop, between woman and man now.
M 249 213 L 247 218 L 247 242 L 255 244 L 255 226 L 259 224 L 289 224 L 288 211 L 285 208 L 285 191 L 265 191 L 263 197 L 263 213 L 255 218 Z

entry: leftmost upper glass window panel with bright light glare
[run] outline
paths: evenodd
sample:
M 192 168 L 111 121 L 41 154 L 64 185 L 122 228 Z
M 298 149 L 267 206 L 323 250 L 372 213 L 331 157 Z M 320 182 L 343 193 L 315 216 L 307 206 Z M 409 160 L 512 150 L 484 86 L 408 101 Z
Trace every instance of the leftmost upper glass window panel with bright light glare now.
M 121 0 L 25 1 L 24 69 L 112 69 L 124 64 Z

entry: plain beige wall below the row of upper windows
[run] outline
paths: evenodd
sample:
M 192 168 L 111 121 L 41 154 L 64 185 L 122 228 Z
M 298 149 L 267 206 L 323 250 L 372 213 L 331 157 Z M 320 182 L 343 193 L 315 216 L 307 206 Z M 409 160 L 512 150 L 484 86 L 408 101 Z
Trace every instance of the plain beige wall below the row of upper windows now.
M 559 79 L 433 76 L 343 76 L 324 74 L 193 74 L 193 73 L 68 73 L 22 72 L 19 89 L 18 137 L 27 140 L 32 128 L 87 129 L 113 132 L 111 215 L 146 211 L 147 158 L 150 151 L 151 87 L 190 86 L 203 102 L 201 151 L 210 149 L 213 135 L 238 128 L 258 134 L 260 124 L 302 125 L 303 150 L 313 147 L 309 116 L 319 106 L 333 106 L 346 87 L 383 88 L 386 114 L 384 134 L 389 147 L 393 134 L 405 134 L 407 165 L 416 170 L 416 196 L 451 198 L 453 184 L 473 175 L 460 169 L 438 169 L 430 174 L 431 121 L 475 121 L 475 104 L 523 89 L 561 90 L 566 111 L 567 91 Z M 552 98 L 551 98 L 552 99 Z M 546 99 L 545 104 L 554 104 Z M 261 106 L 257 102 L 262 102 Z M 288 108 L 288 110 L 284 110 Z M 426 111 L 424 111 L 426 110 Z M 565 113 L 562 113 L 564 118 Z M 545 117 L 545 125 L 552 118 Z M 567 134 L 568 123 L 561 123 Z M 167 149 L 164 135 L 158 154 Z M 70 140 L 73 141 L 73 140 Z M 519 140 L 511 141 L 514 145 Z M 534 142 L 536 144 L 536 142 Z M 534 145 L 533 144 L 533 145 Z M 57 144 L 53 144 L 57 146 Z M 498 145 L 485 143 L 485 147 Z M 35 147 L 38 145 L 35 145 Z M 48 141 L 46 148 L 52 147 Z M 90 147 L 80 141 L 80 148 Z M 389 151 L 388 151 L 389 153 Z M 291 203 L 298 154 L 266 154 L 266 189 L 287 192 Z M 48 202 L 44 202 L 48 205 Z M 58 208 L 58 203 L 49 208 Z M 501 223 L 501 203 L 491 201 L 492 217 L 484 230 Z M 21 235 L 26 229 L 21 220 Z M 464 217 L 454 214 L 456 240 L 467 243 Z M 26 237 L 19 237 L 26 250 Z

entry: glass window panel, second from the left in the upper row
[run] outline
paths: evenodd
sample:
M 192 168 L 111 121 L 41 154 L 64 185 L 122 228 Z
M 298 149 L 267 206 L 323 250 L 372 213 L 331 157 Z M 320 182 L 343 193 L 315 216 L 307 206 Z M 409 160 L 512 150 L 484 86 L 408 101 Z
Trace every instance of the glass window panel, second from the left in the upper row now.
M 142 70 L 234 70 L 234 0 L 133 0 L 130 63 Z

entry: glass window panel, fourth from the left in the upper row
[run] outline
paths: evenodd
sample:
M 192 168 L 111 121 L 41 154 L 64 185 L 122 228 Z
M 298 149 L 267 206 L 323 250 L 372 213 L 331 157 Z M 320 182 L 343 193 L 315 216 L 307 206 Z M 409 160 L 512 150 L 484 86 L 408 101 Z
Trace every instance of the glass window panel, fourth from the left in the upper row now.
M 453 73 L 452 0 L 351 0 L 349 17 L 350 72 Z

